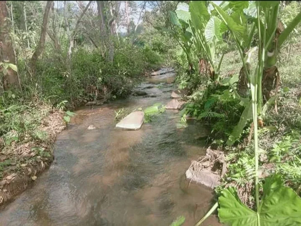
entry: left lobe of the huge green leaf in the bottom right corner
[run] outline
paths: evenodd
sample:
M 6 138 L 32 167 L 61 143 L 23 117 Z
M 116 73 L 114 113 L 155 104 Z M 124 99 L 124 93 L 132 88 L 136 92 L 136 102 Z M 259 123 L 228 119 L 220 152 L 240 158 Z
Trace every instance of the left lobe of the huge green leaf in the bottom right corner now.
M 256 212 L 240 201 L 233 187 L 222 190 L 219 206 L 220 222 L 231 226 L 257 226 Z

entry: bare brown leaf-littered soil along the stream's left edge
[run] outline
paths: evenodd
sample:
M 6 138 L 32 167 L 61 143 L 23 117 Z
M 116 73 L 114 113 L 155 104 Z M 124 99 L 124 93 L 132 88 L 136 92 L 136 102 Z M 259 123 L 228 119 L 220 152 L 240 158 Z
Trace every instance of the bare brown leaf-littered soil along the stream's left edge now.
M 59 132 L 66 128 L 64 112 L 50 109 L 49 115 L 42 120 L 40 130 L 48 134 L 43 143 L 30 140 L 12 143 L 9 148 L 0 152 L 2 179 L 0 180 L 0 209 L 13 201 L 15 196 L 34 184 L 37 177 L 47 168 L 54 159 L 53 144 Z M 1 178 L 1 177 L 0 177 Z

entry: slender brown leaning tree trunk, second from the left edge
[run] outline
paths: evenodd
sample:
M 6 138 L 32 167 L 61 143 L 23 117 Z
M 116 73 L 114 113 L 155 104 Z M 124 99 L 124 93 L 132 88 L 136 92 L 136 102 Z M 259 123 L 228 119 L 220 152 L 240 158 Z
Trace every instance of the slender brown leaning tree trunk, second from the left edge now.
M 30 60 L 30 68 L 31 68 L 33 75 L 36 75 L 36 63 L 37 63 L 39 56 L 42 54 L 42 52 L 44 50 L 49 11 L 50 11 L 52 3 L 53 3 L 53 1 L 47 1 L 44 16 L 43 16 L 43 24 L 42 24 L 42 29 L 41 29 L 40 41 L 36 48 L 36 51 L 33 53 L 31 60 Z

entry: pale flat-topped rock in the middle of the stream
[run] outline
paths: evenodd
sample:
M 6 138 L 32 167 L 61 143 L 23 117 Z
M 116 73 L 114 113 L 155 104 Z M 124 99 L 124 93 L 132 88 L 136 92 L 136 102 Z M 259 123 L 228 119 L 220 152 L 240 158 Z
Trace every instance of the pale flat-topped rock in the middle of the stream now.
M 143 111 L 134 111 L 116 124 L 116 127 L 127 130 L 138 130 L 144 121 Z

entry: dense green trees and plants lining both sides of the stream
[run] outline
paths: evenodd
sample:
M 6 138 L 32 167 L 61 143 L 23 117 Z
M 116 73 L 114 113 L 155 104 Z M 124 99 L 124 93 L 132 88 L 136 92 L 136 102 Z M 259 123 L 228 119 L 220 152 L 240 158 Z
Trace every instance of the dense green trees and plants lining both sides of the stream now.
M 228 225 L 301 224 L 299 2 L 2 1 L 0 8 L 2 154 L 25 141 L 47 157 L 44 118 L 58 111 L 68 122 L 68 108 L 126 97 L 146 72 L 170 65 L 188 91 L 182 121 L 209 124 L 208 146 L 226 155 L 209 213 L 219 207 Z M 136 24 L 129 8 L 140 10 Z M 9 155 L 0 179 L 11 162 L 28 164 Z

